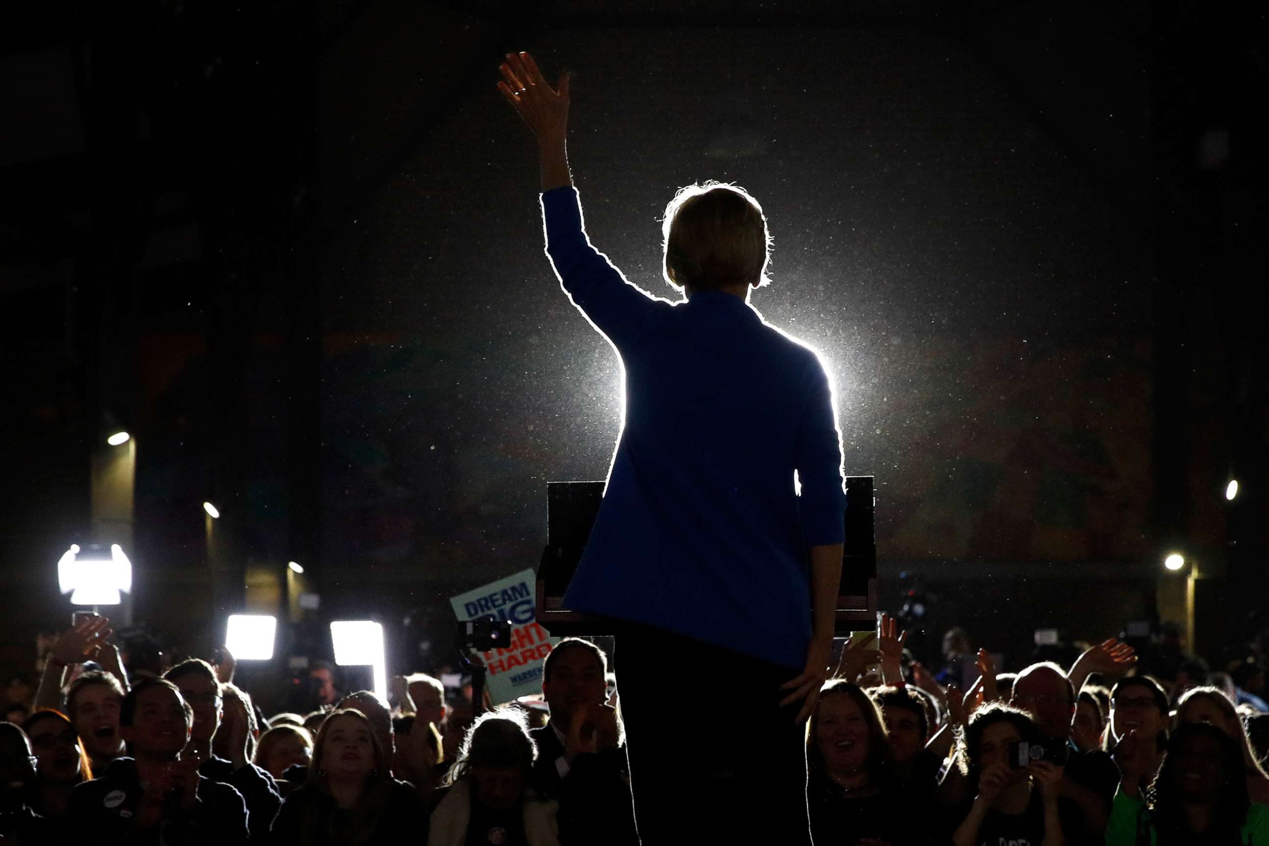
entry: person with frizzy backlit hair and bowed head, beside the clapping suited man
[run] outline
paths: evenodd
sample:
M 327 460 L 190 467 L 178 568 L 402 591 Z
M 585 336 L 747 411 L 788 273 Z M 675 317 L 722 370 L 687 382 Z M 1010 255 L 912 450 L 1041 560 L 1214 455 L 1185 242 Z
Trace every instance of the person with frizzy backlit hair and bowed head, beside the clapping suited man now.
M 560 805 L 529 785 L 537 756 L 519 709 L 481 714 L 434 794 L 428 846 L 560 846 Z M 602 822 L 593 831 L 596 842 L 603 842 Z

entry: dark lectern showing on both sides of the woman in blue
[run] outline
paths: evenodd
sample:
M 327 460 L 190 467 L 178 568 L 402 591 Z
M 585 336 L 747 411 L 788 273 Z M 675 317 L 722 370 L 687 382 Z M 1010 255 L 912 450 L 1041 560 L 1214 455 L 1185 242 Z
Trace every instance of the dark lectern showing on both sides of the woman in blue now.
M 552 637 L 618 634 L 621 623 L 563 606 L 563 595 L 581 561 L 604 496 L 603 482 L 547 483 L 547 548 L 538 567 L 537 620 Z M 838 591 L 835 633 L 868 632 L 877 625 L 877 542 L 873 530 L 872 476 L 846 477 L 845 549 Z

